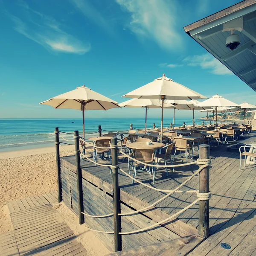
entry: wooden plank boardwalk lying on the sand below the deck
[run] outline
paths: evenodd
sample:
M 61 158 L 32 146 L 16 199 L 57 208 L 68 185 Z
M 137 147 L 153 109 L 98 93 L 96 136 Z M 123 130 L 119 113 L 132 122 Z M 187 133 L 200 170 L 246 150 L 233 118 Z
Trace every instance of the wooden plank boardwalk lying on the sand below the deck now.
M 49 192 L 8 204 L 14 231 L 0 235 L 1 256 L 86 256 L 87 251 L 52 207 Z

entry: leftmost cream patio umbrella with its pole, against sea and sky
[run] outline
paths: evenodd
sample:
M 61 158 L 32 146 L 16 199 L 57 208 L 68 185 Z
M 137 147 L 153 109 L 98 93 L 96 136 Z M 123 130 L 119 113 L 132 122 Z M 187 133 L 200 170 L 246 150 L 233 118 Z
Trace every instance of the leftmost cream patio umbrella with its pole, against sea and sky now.
M 111 108 L 120 108 L 117 102 L 103 96 L 102 94 L 96 93 L 84 85 L 39 104 L 49 105 L 53 108 L 70 108 L 81 110 L 83 114 L 83 137 L 85 110 L 108 110 Z

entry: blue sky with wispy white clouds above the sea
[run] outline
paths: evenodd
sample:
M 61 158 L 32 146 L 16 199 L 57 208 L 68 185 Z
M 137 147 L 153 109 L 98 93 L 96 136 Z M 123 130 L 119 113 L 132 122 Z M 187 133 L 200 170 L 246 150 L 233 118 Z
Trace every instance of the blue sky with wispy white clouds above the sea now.
M 255 92 L 183 30 L 238 2 L 0 0 L 0 118 L 80 118 L 80 111 L 39 102 L 84 84 L 120 103 L 128 100 L 123 94 L 163 73 L 207 97 L 218 93 L 254 104 Z M 195 117 L 203 115 L 196 111 Z M 144 110 L 85 116 L 140 118 Z M 166 110 L 165 117 L 171 116 Z M 148 117 L 160 117 L 160 109 L 149 110 Z

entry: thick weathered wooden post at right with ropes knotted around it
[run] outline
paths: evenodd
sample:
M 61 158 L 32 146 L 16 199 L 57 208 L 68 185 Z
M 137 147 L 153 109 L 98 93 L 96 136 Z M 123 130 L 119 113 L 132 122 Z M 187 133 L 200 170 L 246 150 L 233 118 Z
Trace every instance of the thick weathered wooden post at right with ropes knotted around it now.
M 199 159 L 209 159 L 210 146 L 199 145 Z M 209 166 L 199 173 L 199 193 L 209 192 Z M 198 233 L 204 238 L 209 237 L 209 200 L 199 201 L 199 226 Z

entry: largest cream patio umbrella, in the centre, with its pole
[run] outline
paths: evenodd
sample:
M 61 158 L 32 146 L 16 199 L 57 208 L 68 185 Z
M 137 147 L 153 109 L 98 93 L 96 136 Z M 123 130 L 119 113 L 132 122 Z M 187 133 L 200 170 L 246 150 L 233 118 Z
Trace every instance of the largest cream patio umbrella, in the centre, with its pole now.
M 197 93 L 182 84 L 178 84 L 165 74 L 154 81 L 125 94 L 122 97 L 139 99 L 160 99 L 162 101 L 161 116 L 161 142 L 163 139 L 163 105 L 167 99 L 207 99 L 204 95 Z

